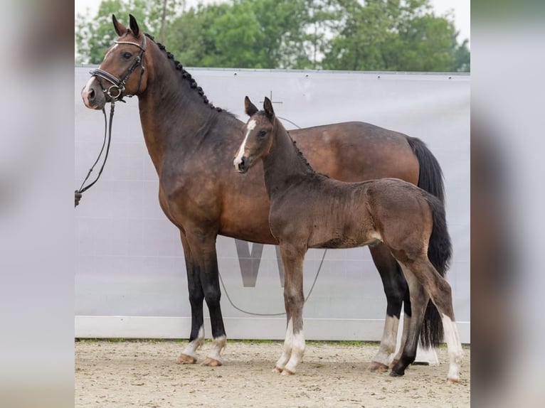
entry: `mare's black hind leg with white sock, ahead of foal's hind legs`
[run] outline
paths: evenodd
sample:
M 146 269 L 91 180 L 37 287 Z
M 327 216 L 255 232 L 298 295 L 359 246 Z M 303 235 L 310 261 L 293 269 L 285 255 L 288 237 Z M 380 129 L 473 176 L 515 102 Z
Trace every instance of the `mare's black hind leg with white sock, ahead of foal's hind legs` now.
M 392 361 L 392 355 L 396 352 L 396 341 L 398 335 L 399 318 L 403 296 L 408 292 L 407 282 L 396 259 L 392 257 L 390 249 L 386 245 L 379 244 L 369 247 L 376 269 L 382 279 L 384 294 L 386 294 L 386 319 L 381 338 L 379 352 L 369 365 L 371 372 L 386 372 Z M 408 319 L 410 319 L 411 307 L 409 305 L 409 316 L 405 316 L 403 334 L 406 335 Z M 401 350 L 400 350 L 401 353 Z

